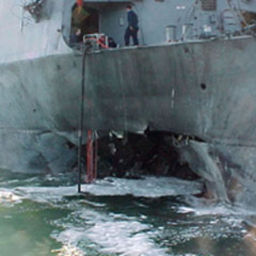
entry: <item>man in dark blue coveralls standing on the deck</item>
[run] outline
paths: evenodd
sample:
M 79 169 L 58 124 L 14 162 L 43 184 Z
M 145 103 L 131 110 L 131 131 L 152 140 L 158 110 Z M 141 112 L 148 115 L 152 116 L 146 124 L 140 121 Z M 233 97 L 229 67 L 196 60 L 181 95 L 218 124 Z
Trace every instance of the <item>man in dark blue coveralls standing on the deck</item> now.
M 128 20 L 128 27 L 125 31 L 124 35 L 124 41 L 125 41 L 125 46 L 130 45 L 130 37 L 133 39 L 133 44 L 138 45 L 138 16 L 137 14 L 132 10 L 131 5 L 126 6 L 126 11 L 127 11 L 127 20 Z

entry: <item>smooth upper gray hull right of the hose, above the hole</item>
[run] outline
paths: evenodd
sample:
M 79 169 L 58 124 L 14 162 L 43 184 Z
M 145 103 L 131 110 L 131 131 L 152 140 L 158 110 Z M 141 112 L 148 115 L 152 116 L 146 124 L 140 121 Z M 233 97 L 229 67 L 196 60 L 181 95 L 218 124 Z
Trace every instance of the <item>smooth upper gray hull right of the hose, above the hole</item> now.
M 149 126 L 255 146 L 255 49 L 250 37 L 92 54 L 87 116 L 98 130 Z

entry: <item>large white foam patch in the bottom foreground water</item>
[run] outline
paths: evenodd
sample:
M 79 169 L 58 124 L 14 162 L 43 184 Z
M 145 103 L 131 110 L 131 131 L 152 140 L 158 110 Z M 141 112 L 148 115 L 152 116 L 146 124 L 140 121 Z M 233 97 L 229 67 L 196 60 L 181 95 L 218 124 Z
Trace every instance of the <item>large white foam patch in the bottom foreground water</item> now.
M 74 209 L 75 205 L 71 207 Z M 79 221 L 82 224 L 77 227 L 70 225 L 70 221 L 64 223 L 60 220 L 57 225 L 64 230 L 52 234 L 63 245 L 79 247 L 85 244 L 88 247 L 90 244 L 98 252 L 123 256 L 168 255 L 154 241 L 163 230 L 153 230 L 150 225 L 124 214 L 106 214 L 81 205 L 77 208 L 72 215 L 82 219 Z

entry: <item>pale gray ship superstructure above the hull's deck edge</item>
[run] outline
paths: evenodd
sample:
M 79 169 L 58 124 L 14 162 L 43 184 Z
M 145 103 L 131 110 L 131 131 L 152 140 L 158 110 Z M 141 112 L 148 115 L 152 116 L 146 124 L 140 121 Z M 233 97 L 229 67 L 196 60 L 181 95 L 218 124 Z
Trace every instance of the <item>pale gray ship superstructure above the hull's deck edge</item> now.
M 31 4 L 42 5 L 39 17 L 26 9 Z M 122 47 L 127 4 L 138 14 L 140 45 L 241 35 L 250 30 L 256 10 L 256 3 L 246 0 L 90 0 L 83 1 L 84 12 L 77 13 L 75 0 L 12 0 L 0 5 L 0 61 L 70 53 L 64 42 L 69 44 L 72 26 L 77 25 L 83 26 L 84 34 L 111 36 Z

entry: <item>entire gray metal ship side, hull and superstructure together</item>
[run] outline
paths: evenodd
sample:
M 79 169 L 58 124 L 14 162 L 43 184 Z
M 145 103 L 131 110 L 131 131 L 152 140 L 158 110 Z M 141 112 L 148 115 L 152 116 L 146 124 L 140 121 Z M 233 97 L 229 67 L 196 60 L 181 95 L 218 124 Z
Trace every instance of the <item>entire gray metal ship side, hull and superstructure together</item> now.
M 0 3 L 0 167 L 12 171 L 61 172 L 76 163 L 82 55 L 63 41 L 75 0 L 49 3 L 50 19 L 37 24 L 19 16 L 22 6 L 18 16 L 6 12 L 14 0 Z M 87 56 L 84 130 L 200 138 L 205 142 L 192 142 L 185 158 L 213 195 L 254 204 L 255 38 L 189 41 L 238 32 L 234 10 L 255 12 L 256 1 L 219 0 L 215 11 L 194 3 L 135 1 L 140 44 L 148 46 Z M 122 46 L 126 3 L 86 4 L 98 9 L 100 32 Z M 170 25 L 178 43 L 165 43 Z M 192 29 L 186 35 L 185 25 Z

